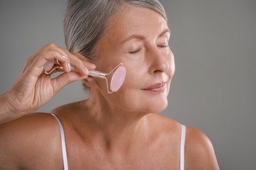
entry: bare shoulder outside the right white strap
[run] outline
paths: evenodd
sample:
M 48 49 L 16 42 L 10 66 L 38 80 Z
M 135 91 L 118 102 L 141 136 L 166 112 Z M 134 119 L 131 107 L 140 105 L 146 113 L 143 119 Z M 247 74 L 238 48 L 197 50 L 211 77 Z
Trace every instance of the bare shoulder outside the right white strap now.
M 219 169 L 213 145 L 200 130 L 186 126 L 186 169 Z

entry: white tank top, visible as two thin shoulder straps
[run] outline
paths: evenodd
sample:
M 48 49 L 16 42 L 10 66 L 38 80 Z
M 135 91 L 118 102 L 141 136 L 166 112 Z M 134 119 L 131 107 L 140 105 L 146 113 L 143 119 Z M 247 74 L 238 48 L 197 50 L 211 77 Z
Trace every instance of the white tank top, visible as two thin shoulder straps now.
M 54 118 L 56 118 L 58 125 L 60 126 L 63 166 L 64 166 L 64 170 L 68 170 L 68 158 L 67 158 L 67 152 L 66 152 L 64 129 L 58 117 L 55 114 L 52 114 L 52 115 L 54 116 Z M 181 170 L 184 170 L 185 138 L 186 138 L 186 126 L 181 125 L 181 152 L 180 152 L 180 169 Z

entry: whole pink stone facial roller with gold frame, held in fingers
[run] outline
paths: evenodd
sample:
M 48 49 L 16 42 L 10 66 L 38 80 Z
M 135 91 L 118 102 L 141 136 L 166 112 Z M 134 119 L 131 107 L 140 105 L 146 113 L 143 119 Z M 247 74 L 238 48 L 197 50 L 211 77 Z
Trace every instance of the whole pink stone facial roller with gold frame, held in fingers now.
M 46 75 L 51 75 L 52 73 L 56 71 L 63 71 L 63 67 L 60 63 L 60 61 L 56 60 L 57 63 L 53 65 L 53 68 L 49 71 L 45 70 Z M 76 68 L 72 68 L 73 71 L 77 70 Z M 121 88 L 121 85 L 123 84 L 123 81 L 125 80 L 125 74 L 126 69 L 123 67 L 123 63 L 119 63 L 110 73 L 102 73 L 100 71 L 89 71 L 89 76 L 95 76 L 98 78 L 104 78 L 106 80 L 106 85 L 108 89 L 108 93 L 117 92 L 119 88 Z M 108 76 L 112 76 L 110 80 L 110 90 L 108 87 Z

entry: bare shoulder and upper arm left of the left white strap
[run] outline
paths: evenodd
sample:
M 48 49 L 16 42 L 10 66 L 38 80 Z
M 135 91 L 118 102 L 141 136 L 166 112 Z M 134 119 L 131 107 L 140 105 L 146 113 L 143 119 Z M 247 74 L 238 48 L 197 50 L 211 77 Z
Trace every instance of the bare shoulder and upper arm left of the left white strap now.
M 53 153 L 58 152 L 59 138 L 58 123 L 47 113 L 33 113 L 1 124 L 0 167 L 35 168 L 36 165 L 30 163 L 48 161 L 47 155 L 54 158 Z

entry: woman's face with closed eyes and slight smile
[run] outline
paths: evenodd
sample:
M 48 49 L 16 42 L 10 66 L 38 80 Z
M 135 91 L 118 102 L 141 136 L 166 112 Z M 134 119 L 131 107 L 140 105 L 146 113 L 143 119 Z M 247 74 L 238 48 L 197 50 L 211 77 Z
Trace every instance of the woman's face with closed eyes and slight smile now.
M 115 16 L 99 42 L 97 70 L 109 73 L 116 65 L 126 68 L 121 88 L 109 94 L 104 79 L 96 78 L 100 93 L 111 105 L 126 111 L 160 112 L 175 72 L 165 19 L 154 10 L 132 7 Z

